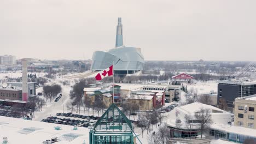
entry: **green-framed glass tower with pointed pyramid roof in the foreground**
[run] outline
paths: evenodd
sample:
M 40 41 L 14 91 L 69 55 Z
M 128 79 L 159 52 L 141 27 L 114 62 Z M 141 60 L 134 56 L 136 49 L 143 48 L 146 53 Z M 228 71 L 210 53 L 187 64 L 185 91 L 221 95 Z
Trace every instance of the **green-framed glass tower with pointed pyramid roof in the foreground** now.
M 130 120 L 115 104 L 109 106 L 90 130 L 90 144 L 135 144 L 136 137 Z

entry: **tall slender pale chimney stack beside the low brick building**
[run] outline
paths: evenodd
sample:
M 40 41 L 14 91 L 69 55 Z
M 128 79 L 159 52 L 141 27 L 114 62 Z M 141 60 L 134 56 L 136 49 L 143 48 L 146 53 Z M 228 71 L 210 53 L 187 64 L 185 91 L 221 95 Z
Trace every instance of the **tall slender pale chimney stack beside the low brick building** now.
M 22 59 L 22 100 L 24 101 L 28 100 L 27 91 L 27 60 Z

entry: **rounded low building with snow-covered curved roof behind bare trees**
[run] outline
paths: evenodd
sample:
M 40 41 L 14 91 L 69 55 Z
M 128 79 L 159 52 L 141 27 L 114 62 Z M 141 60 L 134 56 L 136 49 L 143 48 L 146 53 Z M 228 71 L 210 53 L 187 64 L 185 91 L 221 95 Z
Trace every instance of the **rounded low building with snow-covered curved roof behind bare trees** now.
M 217 107 L 202 103 L 192 103 L 184 106 L 175 107 L 167 115 L 167 125 L 170 128 L 171 137 L 190 137 L 201 135 L 198 119 L 195 113 L 201 109 L 208 109 L 211 113 L 213 123 L 228 124 L 231 113 L 218 109 Z M 185 115 L 191 115 L 191 130 L 185 123 Z M 178 122 L 178 123 L 177 123 Z

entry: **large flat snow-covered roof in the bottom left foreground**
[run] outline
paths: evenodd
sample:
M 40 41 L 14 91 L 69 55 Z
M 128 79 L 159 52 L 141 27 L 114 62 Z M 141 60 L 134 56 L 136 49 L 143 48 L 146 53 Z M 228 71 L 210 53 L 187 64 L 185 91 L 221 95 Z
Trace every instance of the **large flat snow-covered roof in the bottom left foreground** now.
M 61 130 L 55 130 L 54 127 L 61 127 Z M 30 130 L 31 128 L 36 129 L 34 131 L 31 130 L 32 132 L 28 134 L 19 133 L 19 131 L 22 132 L 22 129 Z M 44 123 L 0 116 L 0 131 L 5 131 L 5 133 L 0 133 L 0 137 L 7 137 L 8 143 L 10 144 L 43 143 L 43 141 L 50 140 L 52 137 L 57 137 L 57 139 L 60 140 L 57 143 L 71 144 L 83 143 L 84 140 L 86 143 L 89 143 L 90 130 L 83 127 L 78 127 L 78 130 L 73 130 L 73 126 L 71 125 Z M 68 135 L 71 135 L 71 137 L 67 137 Z M 78 137 L 73 139 L 73 135 L 78 135 Z

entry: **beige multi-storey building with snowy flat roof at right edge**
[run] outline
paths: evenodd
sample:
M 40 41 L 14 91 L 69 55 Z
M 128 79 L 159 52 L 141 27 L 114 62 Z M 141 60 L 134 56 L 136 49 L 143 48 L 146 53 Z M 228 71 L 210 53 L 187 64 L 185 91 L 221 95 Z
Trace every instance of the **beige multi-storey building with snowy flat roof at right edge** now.
M 256 129 L 256 95 L 236 98 L 234 104 L 235 125 Z

